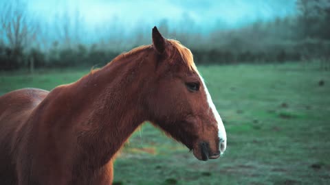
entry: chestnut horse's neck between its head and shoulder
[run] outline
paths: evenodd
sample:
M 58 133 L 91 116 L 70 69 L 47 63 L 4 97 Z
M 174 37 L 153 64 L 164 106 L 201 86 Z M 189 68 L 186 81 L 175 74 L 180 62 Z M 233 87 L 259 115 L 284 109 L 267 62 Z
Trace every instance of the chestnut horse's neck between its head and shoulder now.
M 146 63 L 142 58 L 124 58 L 68 87 L 76 99 L 71 106 L 80 110 L 74 114 L 82 152 L 78 160 L 98 167 L 106 164 L 147 119 L 142 87 L 151 66 Z

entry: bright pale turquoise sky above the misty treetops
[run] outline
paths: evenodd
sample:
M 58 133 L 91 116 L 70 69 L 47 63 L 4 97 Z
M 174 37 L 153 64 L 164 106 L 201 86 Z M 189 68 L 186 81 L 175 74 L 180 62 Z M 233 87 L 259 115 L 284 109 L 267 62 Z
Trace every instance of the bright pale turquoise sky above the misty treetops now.
M 28 10 L 40 21 L 53 23 L 56 16 L 77 12 L 80 21 L 89 27 L 100 27 L 107 23 L 118 23 L 125 27 L 136 27 L 143 23 L 149 27 L 166 18 L 172 27 L 188 21 L 204 29 L 213 27 L 239 27 L 256 20 L 271 20 L 276 16 L 295 13 L 295 0 L 30 0 Z

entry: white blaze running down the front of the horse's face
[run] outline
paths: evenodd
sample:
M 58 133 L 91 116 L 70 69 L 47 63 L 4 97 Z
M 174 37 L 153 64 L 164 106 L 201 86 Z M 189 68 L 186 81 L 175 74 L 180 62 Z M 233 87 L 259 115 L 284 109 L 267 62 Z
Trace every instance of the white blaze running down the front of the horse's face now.
M 197 73 L 197 74 L 199 74 L 199 73 Z M 227 147 L 227 135 L 225 134 L 225 126 L 222 123 L 222 120 L 219 115 L 219 112 L 217 111 L 217 108 L 215 108 L 215 106 L 214 106 L 210 93 L 208 93 L 208 88 L 206 87 L 203 77 L 201 77 L 201 75 L 199 75 L 199 77 L 201 78 L 201 82 L 203 83 L 203 86 L 204 86 L 204 90 L 206 93 L 206 99 L 208 99 L 208 106 L 210 106 L 210 109 L 212 110 L 214 117 L 217 120 L 218 130 L 219 130 L 218 136 L 220 139 L 219 149 L 221 149 L 221 145 L 222 145 L 222 149 L 220 151 L 221 151 L 221 153 L 223 153 L 223 151 L 225 151 L 225 147 Z

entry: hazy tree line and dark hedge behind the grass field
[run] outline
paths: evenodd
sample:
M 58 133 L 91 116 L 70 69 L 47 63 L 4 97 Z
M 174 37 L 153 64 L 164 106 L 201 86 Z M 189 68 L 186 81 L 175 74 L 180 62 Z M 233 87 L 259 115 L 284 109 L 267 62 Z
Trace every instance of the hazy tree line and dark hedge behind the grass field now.
M 30 18 L 23 9 L 24 6 L 18 5 L 19 3 L 19 0 L 11 1 L 1 13 L 1 71 L 102 66 L 122 51 L 150 42 L 149 29 L 137 30 L 129 38 L 110 36 L 95 43 L 82 42 L 81 29 L 78 29 L 79 15 L 72 22 L 64 16 L 58 29 L 59 36 L 54 40 L 45 39 L 47 30 Z M 166 20 L 160 21 L 158 26 L 164 36 L 176 38 L 190 48 L 197 64 L 314 59 L 329 63 L 330 1 L 298 0 L 296 8 L 298 13 L 294 16 L 275 18 L 273 21 L 256 21 L 230 30 L 219 27 L 207 35 L 186 32 L 186 29 L 170 29 Z M 193 25 L 193 20 L 187 22 Z

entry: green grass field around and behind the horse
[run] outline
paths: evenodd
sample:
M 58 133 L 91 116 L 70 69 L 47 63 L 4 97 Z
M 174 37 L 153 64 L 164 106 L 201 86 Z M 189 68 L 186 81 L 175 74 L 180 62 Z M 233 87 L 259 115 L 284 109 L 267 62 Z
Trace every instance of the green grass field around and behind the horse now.
M 329 71 L 294 63 L 199 71 L 225 123 L 225 155 L 201 162 L 146 123 L 115 161 L 114 184 L 330 184 Z M 24 87 L 51 90 L 85 73 L 3 72 L 0 95 Z

